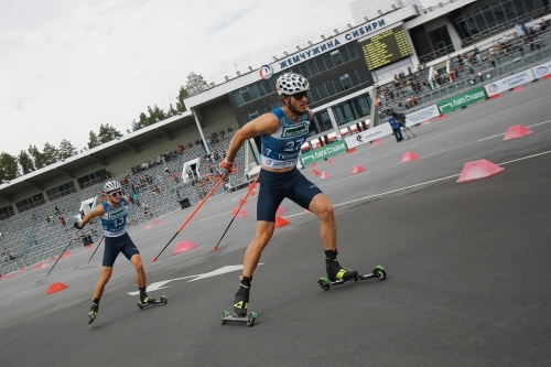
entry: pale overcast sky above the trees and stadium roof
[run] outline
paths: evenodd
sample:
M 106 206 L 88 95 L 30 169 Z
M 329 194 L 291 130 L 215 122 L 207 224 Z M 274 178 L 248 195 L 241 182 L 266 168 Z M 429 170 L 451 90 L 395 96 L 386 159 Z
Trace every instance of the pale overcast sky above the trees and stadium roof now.
M 190 73 L 210 82 L 269 62 L 352 22 L 350 2 L 2 0 L 0 152 L 82 149 L 101 123 L 126 134 L 148 106 L 175 106 Z

